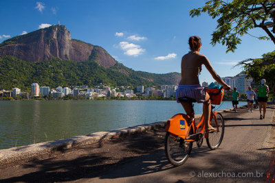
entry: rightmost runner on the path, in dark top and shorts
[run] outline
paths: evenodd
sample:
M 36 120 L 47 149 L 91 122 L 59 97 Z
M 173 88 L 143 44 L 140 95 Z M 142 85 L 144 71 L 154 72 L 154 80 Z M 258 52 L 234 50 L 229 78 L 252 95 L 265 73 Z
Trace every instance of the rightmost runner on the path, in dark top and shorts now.
M 260 110 L 260 119 L 265 119 L 265 111 L 267 106 L 267 93 L 270 93 L 270 89 L 265 84 L 265 79 L 261 80 L 261 85 L 256 88 L 256 92 L 258 92 L 258 102 L 259 102 L 259 110 Z M 262 115 L 263 108 L 263 115 Z

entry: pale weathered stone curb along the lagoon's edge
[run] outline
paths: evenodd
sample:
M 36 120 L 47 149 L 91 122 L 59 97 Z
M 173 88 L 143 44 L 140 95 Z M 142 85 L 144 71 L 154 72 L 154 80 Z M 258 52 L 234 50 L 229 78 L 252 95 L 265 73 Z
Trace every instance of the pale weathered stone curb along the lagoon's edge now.
M 57 141 L 48 141 L 45 143 L 37 143 L 21 147 L 13 147 L 10 149 L 0 150 L 0 166 L 7 166 L 8 164 L 20 164 L 35 160 L 43 155 L 49 155 L 54 151 L 63 151 L 72 147 L 81 147 L 91 145 L 94 143 L 101 143 L 120 136 L 129 136 L 137 132 L 146 132 L 153 130 L 155 127 L 164 127 L 166 121 L 159 121 L 146 125 L 137 125 L 134 127 L 126 127 L 108 132 L 96 132 L 84 136 L 74 136 L 72 138 L 61 139 Z

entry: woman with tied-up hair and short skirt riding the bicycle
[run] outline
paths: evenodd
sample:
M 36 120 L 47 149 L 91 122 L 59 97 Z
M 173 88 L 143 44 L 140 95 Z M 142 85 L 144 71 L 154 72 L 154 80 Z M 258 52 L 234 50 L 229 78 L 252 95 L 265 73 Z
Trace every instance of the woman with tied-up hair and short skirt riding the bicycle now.
M 177 102 L 181 103 L 188 116 L 194 118 L 194 110 L 190 102 L 179 101 L 180 97 L 190 97 L 198 103 L 203 103 L 203 123 L 206 125 L 206 132 L 214 132 L 216 129 L 210 125 L 210 95 L 204 87 L 199 84 L 199 73 L 201 73 L 201 65 L 204 64 L 210 72 L 214 80 L 223 85 L 225 90 L 229 90 L 230 86 L 217 75 L 212 68 L 208 58 L 199 53 L 201 49 L 201 38 L 192 36 L 189 38 L 190 51 L 181 58 L 181 81 L 177 88 L 175 97 Z

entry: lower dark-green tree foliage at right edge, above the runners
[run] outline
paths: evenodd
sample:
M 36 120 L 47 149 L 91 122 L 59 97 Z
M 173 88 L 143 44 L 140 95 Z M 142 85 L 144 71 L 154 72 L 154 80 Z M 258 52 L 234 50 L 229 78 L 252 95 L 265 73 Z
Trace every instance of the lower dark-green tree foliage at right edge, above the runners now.
M 263 58 L 243 60 L 237 65 L 242 65 L 243 69 L 247 71 L 248 76 L 252 77 L 257 84 L 261 83 L 262 79 L 265 79 L 267 85 L 270 87 L 270 93 L 274 94 L 275 90 L 275 51 L 265 53 Z

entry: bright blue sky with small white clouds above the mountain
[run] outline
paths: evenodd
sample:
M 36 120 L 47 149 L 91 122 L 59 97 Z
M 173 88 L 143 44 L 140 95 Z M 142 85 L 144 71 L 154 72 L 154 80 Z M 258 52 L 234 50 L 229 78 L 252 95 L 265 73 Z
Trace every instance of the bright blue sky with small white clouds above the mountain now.
M 47 0 L 0 1 L 0 42 L 50 25 L 65 25 L 72 38 L 98 45 L 118 62 L 135 71 L 180 73 L 181 57 L 188 53 L 188 38 L 199 36 L 200 53 L 207 56 L 221 77 L 243 69 L 233 66 L 274 51 L 271 40 L 241 37 L 234 53 L 210 45 L 217 19 L 208 14 L 191 18 L 189 11 L 205 0 Z M 253 36 L 267 36 L 256 28 Z M 203 66 L 200 82 L 214 82 Z

